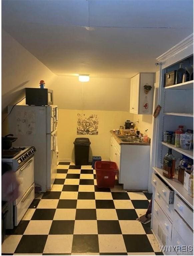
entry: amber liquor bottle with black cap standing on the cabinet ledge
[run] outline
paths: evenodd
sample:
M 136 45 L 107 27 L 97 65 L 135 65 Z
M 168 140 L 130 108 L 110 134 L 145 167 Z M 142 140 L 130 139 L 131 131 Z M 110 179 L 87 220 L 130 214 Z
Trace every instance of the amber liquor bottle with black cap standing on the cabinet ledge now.
M 175 157 L 172 154 L 172 149 L 168 149 L 168 153 L 164 156 L 163 175 L 166 178 L 174 179 L 175 175 Z

